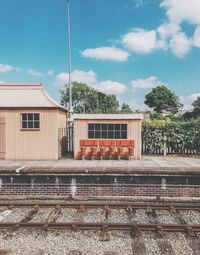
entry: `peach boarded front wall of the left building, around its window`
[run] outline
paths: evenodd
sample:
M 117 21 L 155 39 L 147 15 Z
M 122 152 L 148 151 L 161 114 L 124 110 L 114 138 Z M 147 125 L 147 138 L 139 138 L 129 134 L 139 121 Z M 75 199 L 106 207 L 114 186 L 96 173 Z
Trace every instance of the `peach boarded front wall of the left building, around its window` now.
M 22 131 L 21 113 L 40 113 L 40 130 Z M 6 159 L 58 159 L 57 110 L 0 110 L 0 117 L 6 122 Z

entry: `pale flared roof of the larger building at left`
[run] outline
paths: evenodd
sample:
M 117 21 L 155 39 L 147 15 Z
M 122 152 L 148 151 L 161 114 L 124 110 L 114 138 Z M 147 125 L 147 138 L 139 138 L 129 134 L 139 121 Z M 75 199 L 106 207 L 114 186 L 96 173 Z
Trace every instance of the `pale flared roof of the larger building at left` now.
M 42 84 L 0 84 L 0 108 L 59 108 L 67 111 L 47 94 Z

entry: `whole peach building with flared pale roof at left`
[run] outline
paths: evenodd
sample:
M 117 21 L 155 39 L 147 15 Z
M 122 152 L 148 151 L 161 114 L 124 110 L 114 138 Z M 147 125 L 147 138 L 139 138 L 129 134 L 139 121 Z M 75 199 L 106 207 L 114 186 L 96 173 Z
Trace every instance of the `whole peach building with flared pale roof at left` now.
M 60 158 L 66 114 L 41 84 L 0 84 L 0 159 Z

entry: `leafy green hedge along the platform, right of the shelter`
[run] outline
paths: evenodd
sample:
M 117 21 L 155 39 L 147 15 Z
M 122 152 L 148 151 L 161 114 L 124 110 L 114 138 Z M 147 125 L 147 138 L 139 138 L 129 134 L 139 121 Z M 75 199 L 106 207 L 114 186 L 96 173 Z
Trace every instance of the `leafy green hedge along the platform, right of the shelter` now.
M 189 122 L 150 120 L 143 122 L 144 154 L 200 154 L 200 119 Z

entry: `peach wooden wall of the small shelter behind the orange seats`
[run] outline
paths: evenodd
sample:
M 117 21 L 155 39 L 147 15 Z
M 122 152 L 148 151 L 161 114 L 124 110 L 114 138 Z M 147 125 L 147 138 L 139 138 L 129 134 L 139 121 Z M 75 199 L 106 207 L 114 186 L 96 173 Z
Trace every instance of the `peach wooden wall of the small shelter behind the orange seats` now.
M 74 121 L 74 155 L 80 151 L 80 140 L 88 139 L 89 123 L 116 123 L 128 125 L 127 139 L 135 140 L 134 159 L 141 159 L 141 120 L 75 120 Z

